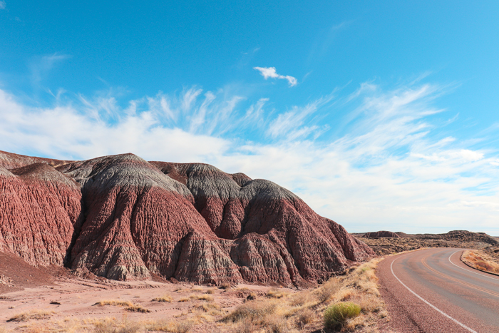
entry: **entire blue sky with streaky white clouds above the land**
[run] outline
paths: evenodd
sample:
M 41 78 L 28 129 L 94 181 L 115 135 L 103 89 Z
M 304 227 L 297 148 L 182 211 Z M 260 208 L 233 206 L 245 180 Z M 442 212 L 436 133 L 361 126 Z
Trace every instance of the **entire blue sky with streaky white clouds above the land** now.
M 499 2 L 0 0 L 0 150 L 264 178 L 349 232 L 499 236 Z

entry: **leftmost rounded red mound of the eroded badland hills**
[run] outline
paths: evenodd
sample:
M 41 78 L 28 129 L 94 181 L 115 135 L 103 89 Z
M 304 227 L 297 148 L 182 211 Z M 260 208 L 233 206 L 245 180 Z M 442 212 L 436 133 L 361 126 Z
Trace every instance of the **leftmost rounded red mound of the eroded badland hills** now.
M 31 265 L 63 265 L 81 221 L 78 183 L 51 166 L 0 166 L 0 250 Z

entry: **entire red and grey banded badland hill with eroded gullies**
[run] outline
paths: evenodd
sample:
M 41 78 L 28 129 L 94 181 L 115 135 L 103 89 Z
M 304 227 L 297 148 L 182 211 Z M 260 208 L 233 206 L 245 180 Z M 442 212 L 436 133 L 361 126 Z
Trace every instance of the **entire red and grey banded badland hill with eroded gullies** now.
M 374 255 L 268 180 L 133 154 L 78 162 L 0 151 L 0 250 L 110 279 L 299 285 Z

